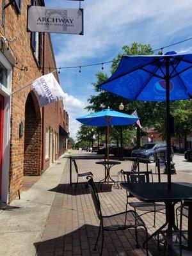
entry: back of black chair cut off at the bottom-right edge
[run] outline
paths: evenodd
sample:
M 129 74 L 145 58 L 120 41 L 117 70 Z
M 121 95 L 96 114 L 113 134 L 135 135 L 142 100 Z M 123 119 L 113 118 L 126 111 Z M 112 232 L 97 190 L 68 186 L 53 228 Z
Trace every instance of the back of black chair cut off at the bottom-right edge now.
M 188 235 L 185 236 L 182 230 L 182 217 L 186 216 L 184 214 L 184 207 L 188 207 Z M 192 252 L 192 200 L 182 200 L 180 203 L 180 255 L 182 255 L 182 249 Z

